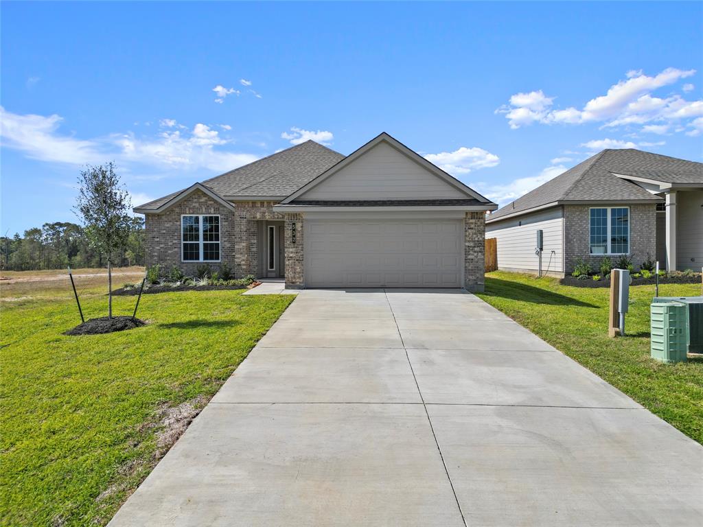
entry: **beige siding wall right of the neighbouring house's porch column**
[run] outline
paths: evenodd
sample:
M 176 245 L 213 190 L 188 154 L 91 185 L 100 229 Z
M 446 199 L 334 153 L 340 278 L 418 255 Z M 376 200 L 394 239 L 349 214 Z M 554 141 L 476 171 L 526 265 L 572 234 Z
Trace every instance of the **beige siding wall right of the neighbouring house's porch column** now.
M 676 193 L 676 267 L 679 271 L 703 267 L 703 190 Z

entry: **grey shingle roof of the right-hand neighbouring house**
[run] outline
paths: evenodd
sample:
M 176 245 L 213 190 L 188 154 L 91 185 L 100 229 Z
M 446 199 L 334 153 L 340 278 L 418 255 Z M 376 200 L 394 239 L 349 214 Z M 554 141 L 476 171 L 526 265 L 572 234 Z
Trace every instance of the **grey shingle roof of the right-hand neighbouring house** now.
M 642 152 L 633 148 L 603 150 L 488 216 L 493 221 L 553 202 L 630 200 L 661 201 L 622 174 L 666 183 L 703 183 L 703 163 Z

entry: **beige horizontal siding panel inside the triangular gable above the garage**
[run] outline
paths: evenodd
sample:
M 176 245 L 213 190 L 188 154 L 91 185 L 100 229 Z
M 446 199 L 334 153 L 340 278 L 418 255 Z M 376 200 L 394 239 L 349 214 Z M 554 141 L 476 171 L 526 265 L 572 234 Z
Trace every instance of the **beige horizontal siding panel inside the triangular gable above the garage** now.
M 343 197 L 343 198 L 342 198 Z M 387 143 L 305 193 L 306 200 L 431 200 L 466 195 Z

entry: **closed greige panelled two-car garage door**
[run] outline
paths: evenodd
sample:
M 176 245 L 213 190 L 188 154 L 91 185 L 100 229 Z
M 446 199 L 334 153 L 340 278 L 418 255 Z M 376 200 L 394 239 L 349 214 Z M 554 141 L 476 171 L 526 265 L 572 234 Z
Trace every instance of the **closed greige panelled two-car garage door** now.
M 305 220 L 307 287 L 461 287 L 463 221 Z

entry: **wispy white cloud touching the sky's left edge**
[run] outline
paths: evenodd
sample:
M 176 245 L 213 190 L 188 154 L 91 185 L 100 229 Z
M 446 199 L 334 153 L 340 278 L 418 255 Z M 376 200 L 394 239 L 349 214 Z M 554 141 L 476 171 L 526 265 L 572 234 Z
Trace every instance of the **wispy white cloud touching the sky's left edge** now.
M 0 106 L 2 145 L 25 152 L 32 159 L 86 164 L 103 161 L 96 141 L 84 141 L 56 132 L 63 118 L 59 115 L 19 115 Z

